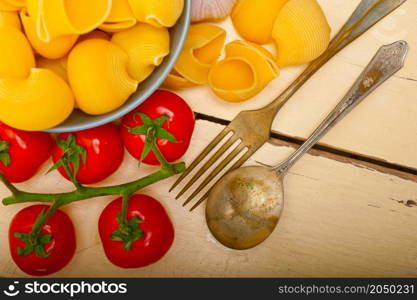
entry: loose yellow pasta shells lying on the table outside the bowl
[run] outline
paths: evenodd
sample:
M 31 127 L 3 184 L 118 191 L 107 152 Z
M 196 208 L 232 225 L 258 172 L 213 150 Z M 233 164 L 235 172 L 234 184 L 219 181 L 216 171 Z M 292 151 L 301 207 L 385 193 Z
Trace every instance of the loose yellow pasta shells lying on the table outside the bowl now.
M 223 100 L 245 101 L 277 78 L 280 68 L 313 61 L 330 42 L 331 29 L 317 0 L 238 0 L 231 19 L 242 40 L 227 45 L 221 27 L 191 26 L 166 87 L 207 84 Z M 276 55 L 264 44 L 275 44 Z

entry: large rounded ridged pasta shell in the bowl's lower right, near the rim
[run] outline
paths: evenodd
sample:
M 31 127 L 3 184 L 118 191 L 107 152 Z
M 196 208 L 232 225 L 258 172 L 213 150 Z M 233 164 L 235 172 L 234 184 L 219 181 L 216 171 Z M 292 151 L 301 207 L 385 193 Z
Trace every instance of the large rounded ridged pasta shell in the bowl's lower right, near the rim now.
M 138 86 L 127 73 L 128 60 L 109 41 L 91 39 L 77 44 L 68 57 L 68 78 L 78 107 L 99 115 L 123 105 Z

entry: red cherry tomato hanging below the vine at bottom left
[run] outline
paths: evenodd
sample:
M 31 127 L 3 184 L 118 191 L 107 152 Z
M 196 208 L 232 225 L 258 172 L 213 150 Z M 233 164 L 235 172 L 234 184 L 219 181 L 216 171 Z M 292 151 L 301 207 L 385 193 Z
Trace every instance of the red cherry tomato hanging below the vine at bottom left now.
M 75 253 L 75 231 L 71 219 L 61 210 L 57 210 L 42 227 L 42 234 L 52 235 L 52 240 L 45 244 L 46 253 L 51 253 L 47 258 L 38 256 L 35 252 L 21 256 L 18 248 L 24 248 L 25 243 L 15 237 L 15 233 L 29 233 L 36 218 L 42 210 L 47 210 L 47 205 L 33 205 L 19 211 L 10 223 L 9 246 L 10 253 L 17 266 L 25 273 L 32 276 L 44 276 L 55 273 L 65 267 Z

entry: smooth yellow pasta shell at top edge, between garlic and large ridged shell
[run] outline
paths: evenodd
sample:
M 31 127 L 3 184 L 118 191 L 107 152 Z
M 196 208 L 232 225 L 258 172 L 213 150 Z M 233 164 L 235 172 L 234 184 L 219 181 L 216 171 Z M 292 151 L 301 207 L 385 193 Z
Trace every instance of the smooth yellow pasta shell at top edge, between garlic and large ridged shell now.
M 239 0 L 232 12 L 236 30 L 246 40 L 266 44 L 272 41 L 272 28 L 288 0 Z

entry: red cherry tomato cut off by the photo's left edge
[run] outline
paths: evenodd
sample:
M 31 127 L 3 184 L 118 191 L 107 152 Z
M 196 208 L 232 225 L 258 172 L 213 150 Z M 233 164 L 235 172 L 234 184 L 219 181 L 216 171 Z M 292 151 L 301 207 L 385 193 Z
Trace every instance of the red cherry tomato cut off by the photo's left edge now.
M 51 156 L 52 147 L 53 140 L 48 133 L 22 131 L 0 122 L 0 155 L 10 163 L 6 167 L 0 159 L 0 172 L 10 182 L 32 178 Z

